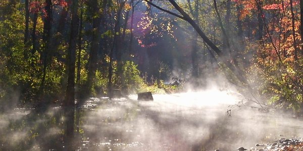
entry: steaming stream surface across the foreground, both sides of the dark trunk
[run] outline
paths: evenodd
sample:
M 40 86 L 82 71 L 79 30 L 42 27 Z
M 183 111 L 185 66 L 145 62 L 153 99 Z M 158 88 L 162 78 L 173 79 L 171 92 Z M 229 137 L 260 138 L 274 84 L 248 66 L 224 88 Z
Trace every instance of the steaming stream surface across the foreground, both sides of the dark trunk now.
M 154 101 L 90 98 L 75 111 L 73 140 L 65 136 L 62 108 L 15 109 L 0 115 L 0 150 L 234 150 L 303 135 L 303 122 L 288 115 L 229 105 L 239 94 L 209 90 L 154 95 Z

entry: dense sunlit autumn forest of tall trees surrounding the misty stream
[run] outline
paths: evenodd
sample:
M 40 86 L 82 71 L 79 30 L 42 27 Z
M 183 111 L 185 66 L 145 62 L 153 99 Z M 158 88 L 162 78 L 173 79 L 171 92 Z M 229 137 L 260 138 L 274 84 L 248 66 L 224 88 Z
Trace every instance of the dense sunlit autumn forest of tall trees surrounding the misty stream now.
M 69 142 L 89 99 L 225 83 L 254 108 L 302 117 L 302 37 L 301 0 L 1 0 L 0 121 L 12 109 L 57 104 Z M 133 110 L 123 116 L 141 111 Z M 24 143 L 41 136 L 37 129 Z

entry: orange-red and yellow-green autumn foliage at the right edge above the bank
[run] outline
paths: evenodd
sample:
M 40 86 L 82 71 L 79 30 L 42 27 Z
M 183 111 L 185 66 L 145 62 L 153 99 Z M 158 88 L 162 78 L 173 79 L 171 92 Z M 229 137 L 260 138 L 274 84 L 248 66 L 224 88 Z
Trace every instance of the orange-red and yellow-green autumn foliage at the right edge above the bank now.
M 242 20 L 258 10 L 262 12 L 264 35 L 255 46 L 254 64 L 247 73 L 258 72 L 257 76 L 262 77 L 257 89 L 269 97 L 270 103 L 281 108 L 291 108 L 296 113 L 302 112 L 303 51 L 299 1 L 292 1 L 292 6 L 291 1 L 234 2 L 242 7 Z

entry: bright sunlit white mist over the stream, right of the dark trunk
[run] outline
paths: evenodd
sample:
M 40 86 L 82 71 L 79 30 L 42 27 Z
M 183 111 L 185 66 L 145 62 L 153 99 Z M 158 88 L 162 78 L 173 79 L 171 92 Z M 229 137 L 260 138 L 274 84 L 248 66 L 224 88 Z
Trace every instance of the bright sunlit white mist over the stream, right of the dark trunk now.
M 288 115 L 237 107 L 228 116 L 241 99 L 215 89 L 154 95 L 153 102 L 134 95 L 88 114 L 83 129 L 97 138 L 90 141 L 96 150 L 234 150 L 302 134 L 303 122 Z

